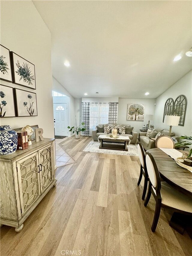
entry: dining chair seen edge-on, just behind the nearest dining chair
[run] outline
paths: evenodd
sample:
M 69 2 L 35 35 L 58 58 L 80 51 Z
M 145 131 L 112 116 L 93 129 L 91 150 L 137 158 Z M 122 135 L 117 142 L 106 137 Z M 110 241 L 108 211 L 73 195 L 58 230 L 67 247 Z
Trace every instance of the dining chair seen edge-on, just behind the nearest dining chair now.
M 147 191 L 147 183 L 149 180 L 148 174 L 147 174 L 147 168 L 146 168 L 146 162 L 145 162 L 145 152 L 143 149 L 143 146 L 140 142 L 137 144 L 138 154 L 139 154 L 139 160 L 140 160 L 140 176 L 139 180 L 137 182 L 137 185 L 140 185 L 142 176 L 144 176 L 144 187 L 143 187 L 143 194 L 142 194 L 142 200 L 145 199 L 146 191 Z

